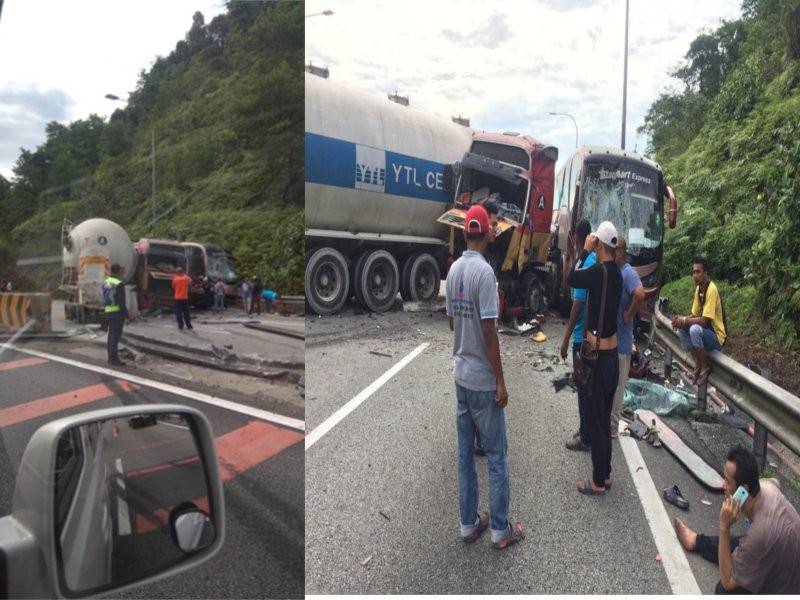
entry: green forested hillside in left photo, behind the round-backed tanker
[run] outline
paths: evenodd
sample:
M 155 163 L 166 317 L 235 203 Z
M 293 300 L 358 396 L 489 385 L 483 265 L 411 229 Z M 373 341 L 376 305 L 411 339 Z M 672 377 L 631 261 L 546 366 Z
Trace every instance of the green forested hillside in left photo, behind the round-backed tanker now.
M 217 243 L 243 275 L 302 293 L 303 3 L 233 0 L 189 25 L 108 121 L 49 123 L 12 181 L 0 177 L 0 275 L 58 254 L 64 218 L 104 217 L 133 240 Z

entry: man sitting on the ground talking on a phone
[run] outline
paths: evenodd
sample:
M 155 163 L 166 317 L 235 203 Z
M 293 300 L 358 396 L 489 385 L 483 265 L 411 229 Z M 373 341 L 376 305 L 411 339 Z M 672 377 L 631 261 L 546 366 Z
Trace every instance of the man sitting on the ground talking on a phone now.
M 676 518 L 681 545 L 719 565 L 717 594 L 800 594 L 800 515 L 776 479 L 759 480 L 756 458 L 742 446 L 728 452 L 723 473 L 719 536 L 698 534 Z M 750 527 L 731 536 L 742 516 Z

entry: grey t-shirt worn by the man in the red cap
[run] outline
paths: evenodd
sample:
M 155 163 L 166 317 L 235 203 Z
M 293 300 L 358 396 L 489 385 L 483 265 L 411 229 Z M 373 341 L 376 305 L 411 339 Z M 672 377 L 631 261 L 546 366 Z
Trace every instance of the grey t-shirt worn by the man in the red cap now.
M 494 391 L 494 371 L 486 357 L 482 319 L 497 318 L 497 280 L 486 259 L 467 250 L 447 274 L 447 316 L 453 318 L 453 377 L 478 392 Z

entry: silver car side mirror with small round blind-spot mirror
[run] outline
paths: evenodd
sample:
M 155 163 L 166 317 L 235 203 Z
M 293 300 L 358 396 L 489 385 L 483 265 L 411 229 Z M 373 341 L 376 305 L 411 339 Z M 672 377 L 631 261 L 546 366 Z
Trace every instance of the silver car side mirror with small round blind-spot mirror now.
M 0 519 L 8 597 L 82 598 L 214 556 L 225 506 L 206 417 L 180 405 L 111 408 L 31 437 Z

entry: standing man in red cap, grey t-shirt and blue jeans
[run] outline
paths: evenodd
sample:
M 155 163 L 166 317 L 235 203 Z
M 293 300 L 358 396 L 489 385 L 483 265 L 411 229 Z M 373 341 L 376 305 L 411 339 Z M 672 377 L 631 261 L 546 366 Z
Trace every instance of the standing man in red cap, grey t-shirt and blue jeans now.
M 464 220 L 467 249 L 447 274 L 447 316 L 453 339 L 453 377 L 456 383 L 458 428 L 458 495 L 461 536 L 476 541 L 491 525 L 495 548 L 503 549 L 525 537 L 522 523 L 508 520 L 508 404 L 500 361 L 497 280 L 483 253 L 490 241 L 489 215 L 472 206 Z M 478 512 L 478 477 L 473 440 L 480 431 L 489 462 L 490 514 Z

